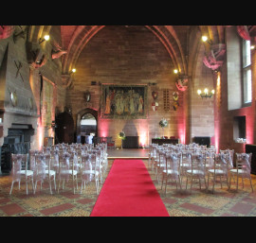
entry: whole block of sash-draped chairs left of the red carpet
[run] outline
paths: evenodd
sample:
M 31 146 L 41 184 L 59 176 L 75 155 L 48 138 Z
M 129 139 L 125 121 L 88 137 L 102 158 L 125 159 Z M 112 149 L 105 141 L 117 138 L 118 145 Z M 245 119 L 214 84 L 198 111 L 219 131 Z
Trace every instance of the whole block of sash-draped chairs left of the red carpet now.
M 103 174 L 107 168 L 107 147 L 99 144 L 97 148 L 91 145 L 72 144 L 57 145 L 42 150 L 30 150 L 28 154 L 11 154 L 11 195 L 14 182 L 26 182 L 28 194 L 28 183 L 31 182 L 35 194 L 37 182 L 49 183 L 50 194 L 52 194 L 52 183 L 58 193 L 64 190 L 64 182 L 72 181 L 74 194 L 78 191 L 78 182 L 81 181 L 81 191 L 85 190 L 86 182 L 95 181 L 96 192 L 99 194 L 99 182 L 102 182 Z

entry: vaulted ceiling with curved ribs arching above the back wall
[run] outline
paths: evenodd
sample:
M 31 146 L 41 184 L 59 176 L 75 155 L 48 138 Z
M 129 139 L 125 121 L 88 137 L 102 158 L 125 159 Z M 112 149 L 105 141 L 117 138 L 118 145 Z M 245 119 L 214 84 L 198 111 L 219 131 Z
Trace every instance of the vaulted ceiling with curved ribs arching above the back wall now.
M 59 44 L 66 54 L 62 57 L 63 74 L 76 65 L 82 49 L 104 26 L 60 26 Z M 123 26 L 133 27 L 133 26 Z M 189 75 L 201 36 L 208 35 L 213 43 L 224 43 L 226 26 L 145 26 L 150 29 L 165 46 L 174 67 L 180 74 Z M 52 26 L 29 26 L 28 41 L 33 42 L 49 34 Z

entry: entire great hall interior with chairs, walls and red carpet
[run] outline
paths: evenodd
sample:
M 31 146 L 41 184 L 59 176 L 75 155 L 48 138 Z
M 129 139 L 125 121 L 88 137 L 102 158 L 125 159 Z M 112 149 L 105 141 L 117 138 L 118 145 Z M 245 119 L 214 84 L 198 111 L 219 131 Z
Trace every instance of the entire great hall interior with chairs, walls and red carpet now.
M 255 44 L 256 26 L 0 26 L 0 216 L 256 216 Z M 129 203 L 116 178 L 138 180 Z

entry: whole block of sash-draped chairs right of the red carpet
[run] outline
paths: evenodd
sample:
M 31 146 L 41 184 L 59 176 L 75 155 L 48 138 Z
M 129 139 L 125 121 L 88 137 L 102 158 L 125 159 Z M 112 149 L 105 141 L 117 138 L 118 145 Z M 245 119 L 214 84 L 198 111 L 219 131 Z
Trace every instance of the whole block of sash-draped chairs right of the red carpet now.
M 213 148 L 190 147 L 184 148 L 179 146 L 157 146 L 151 145 L 149 151 L 149 166 L 155 170 L 157 182 L 161 179 L 161 188 L 165 182 L 165 192 L 168 179 L 171 178 L 182 189 L 182 180 L 186 179 L 186 189 L 188 182 L 197 179 L 201 189 L 201 181 L 205 183 L 205 188 L 209 189 L 210 179 L 212 184 L 212 193 L 214 192 L 215 182 L 225 178 L 228 184 L 228 190 L 231 187 L 231 179 L 236 182 L 238 190 L 239 178 L 242 178 L 243 187 L 244 179 L 250 181 L 251 190 L 253 186 L 250 176 L 251 153 L 236 153 L 236 165 L 233 165 L 234 150 L 220 150 L 216 153 Z M 236 178 L 236 180 L 235 180 Z

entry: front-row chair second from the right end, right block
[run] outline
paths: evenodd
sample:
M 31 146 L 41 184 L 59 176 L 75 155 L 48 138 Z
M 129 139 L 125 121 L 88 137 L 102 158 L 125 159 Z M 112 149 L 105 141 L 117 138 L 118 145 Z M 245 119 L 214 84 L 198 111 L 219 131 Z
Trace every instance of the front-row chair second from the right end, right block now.
M 230 164 L 229 154 L 227 153 L 214 154 L 213 158 L 214 158 L 213 167 L 208 170 L 208 188 L 209 188 L 210 177 L 212 177 L 212 181 L 213 181 L 212 193 L 214 193 L 214 186 L 215 186 L 215 182 L 217 182 L 216 181 L 217 177 L 220 178 L 221 188 L 222 188 L 222 178 L 226 178 L 226 182 L 229 188 L 229 169 L 232 166 Z

